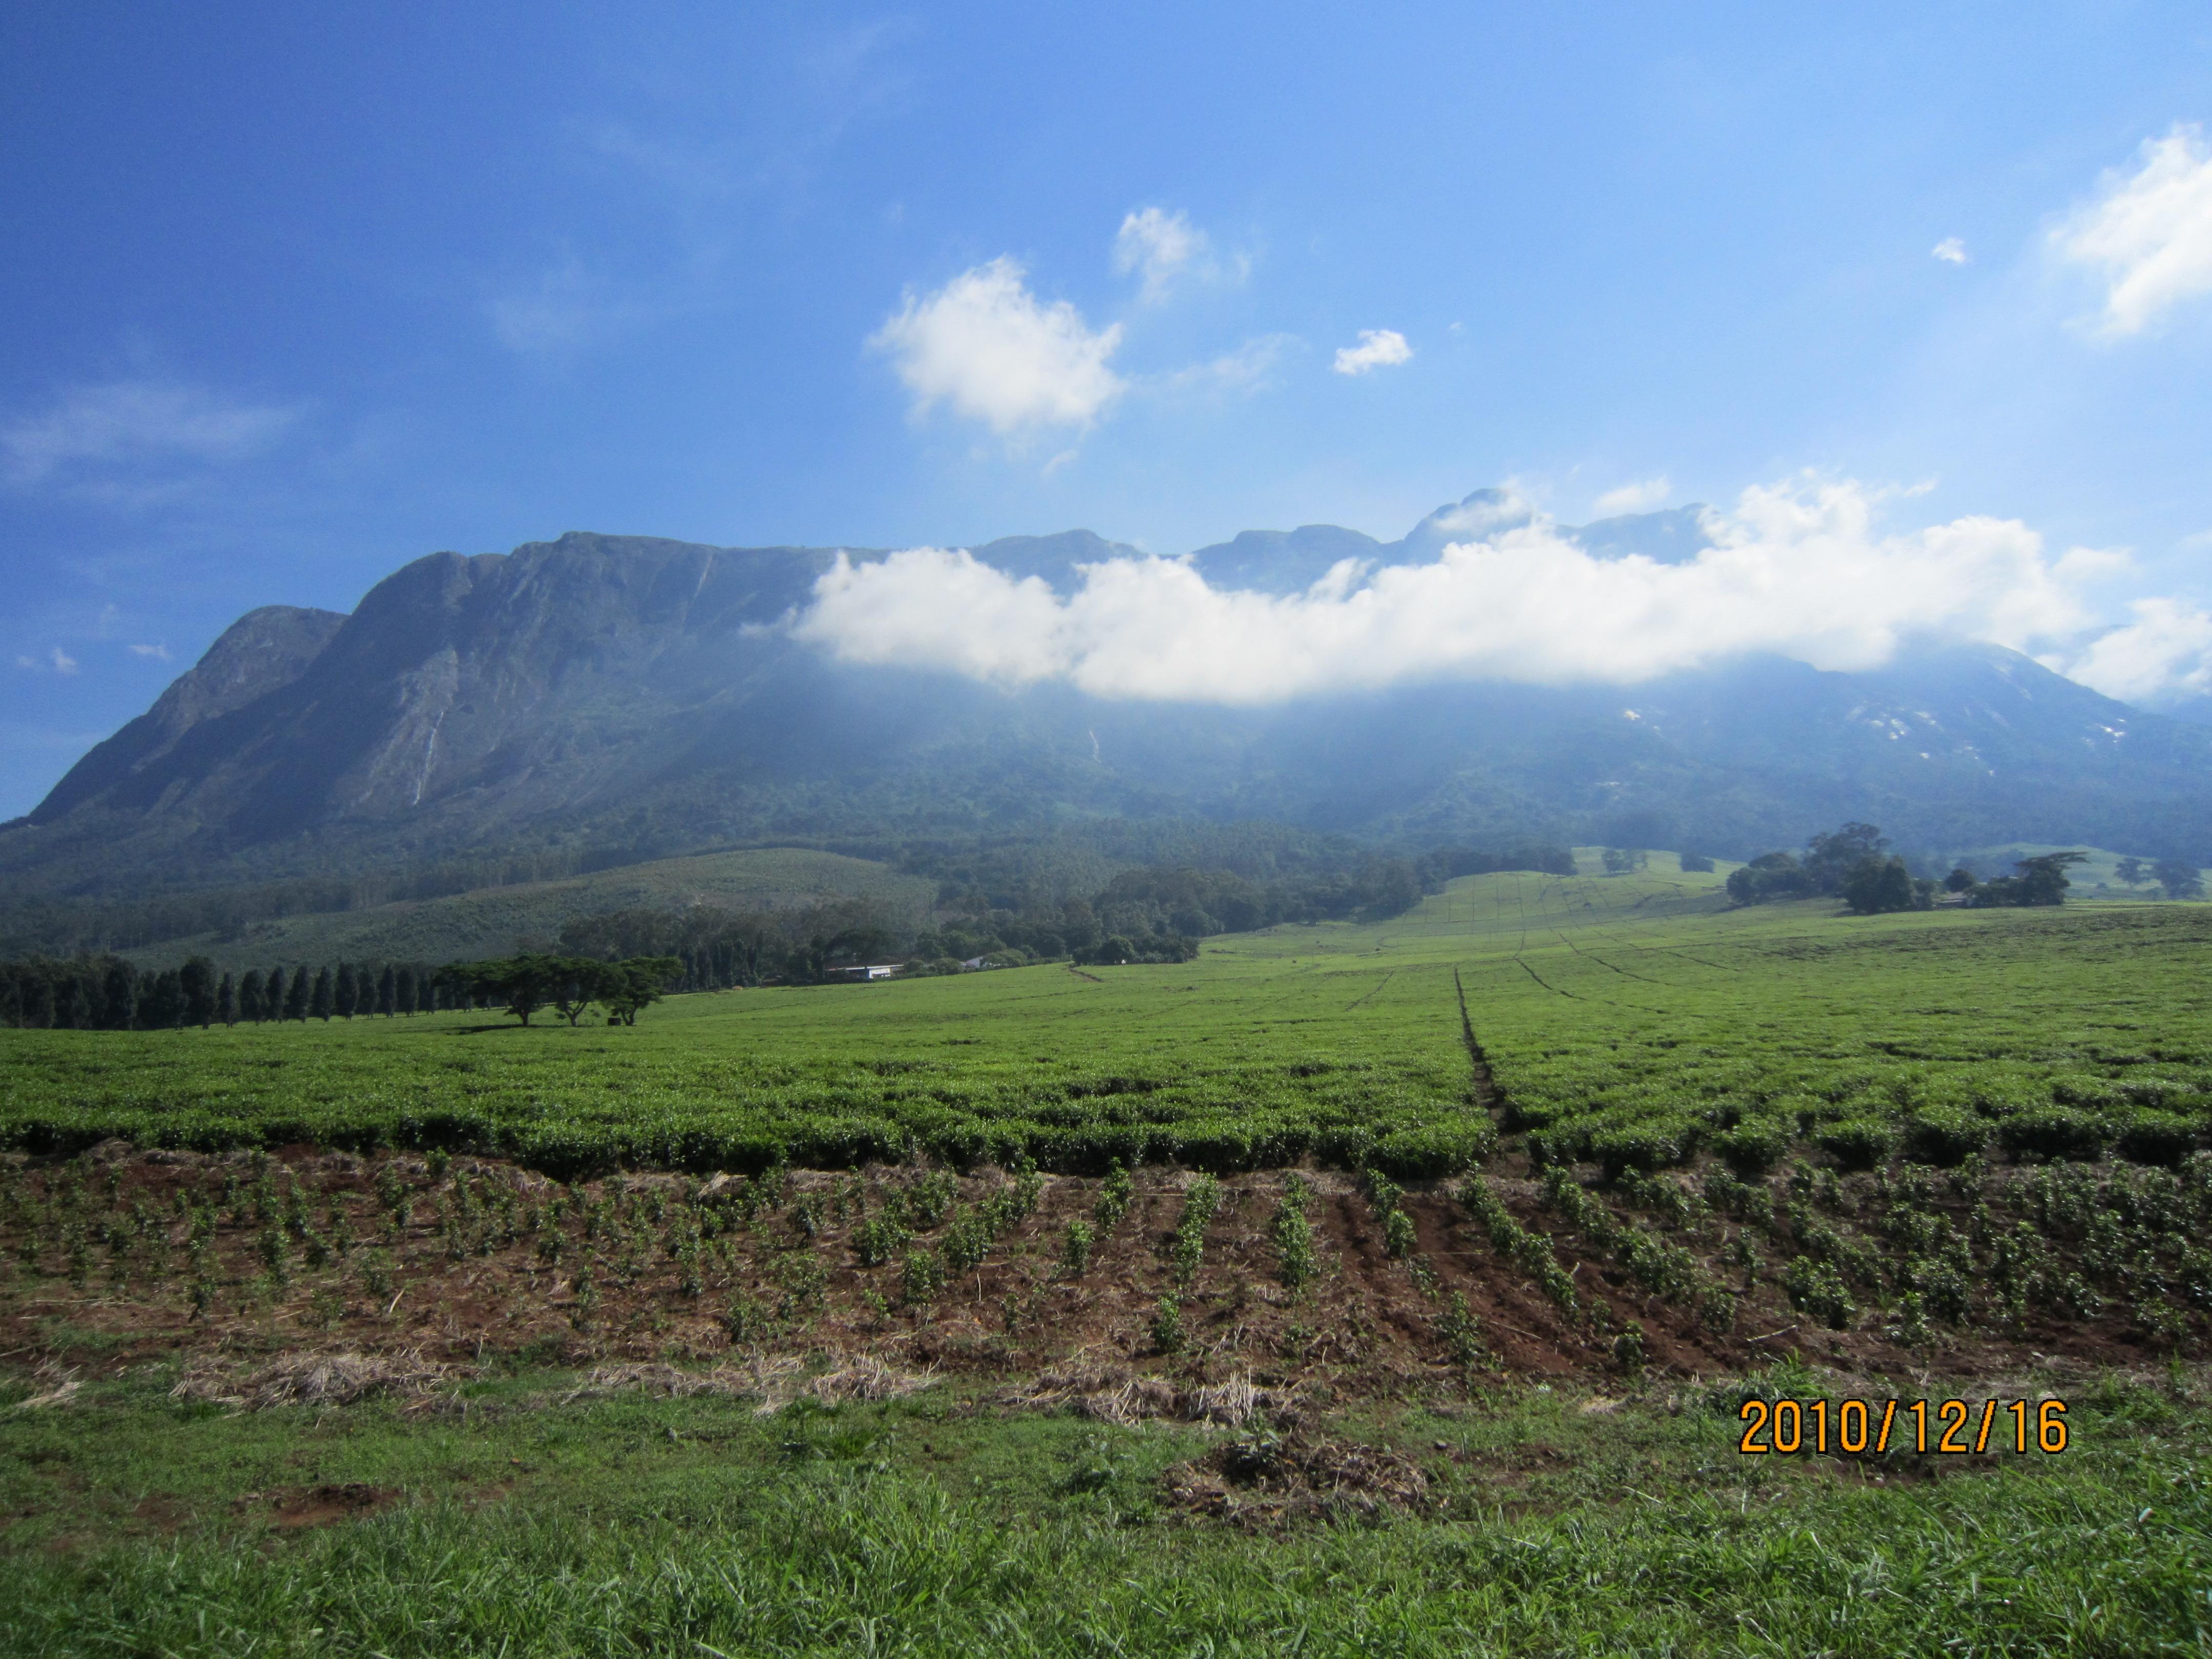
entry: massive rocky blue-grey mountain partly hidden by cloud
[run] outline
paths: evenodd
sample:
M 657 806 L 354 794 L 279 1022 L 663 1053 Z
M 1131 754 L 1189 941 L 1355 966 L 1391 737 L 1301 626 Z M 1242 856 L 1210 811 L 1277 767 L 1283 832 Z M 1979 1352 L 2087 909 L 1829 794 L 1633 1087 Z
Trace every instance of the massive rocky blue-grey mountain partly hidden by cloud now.
M 1524 518 L 1475 491 L 1398 542 L 1310 524 L 1192 562 L 1219 586 L 1294 593 L 1343 560 L 1422 562 Z M 1599 557 L 1705 544 L 1694 507 L 1568 535 Z M 1088 531 L 975 549 L 1062 591 L 1128 553 Z M 1628 690 L 1159 706 L 834 664 L 776 624 L 836 557 L 568 533 L 416 560 L 349 617 L 252 611 L 0 827 L 0 880 L 22 911 L 518 854 L 887 852 L 1113 818 L 1745 856 L 1860 816 L 1929 854 L 2093 841 L 2212 863 L 2212 728 L 1995 646 L 1860 675 L 1745 659 Z

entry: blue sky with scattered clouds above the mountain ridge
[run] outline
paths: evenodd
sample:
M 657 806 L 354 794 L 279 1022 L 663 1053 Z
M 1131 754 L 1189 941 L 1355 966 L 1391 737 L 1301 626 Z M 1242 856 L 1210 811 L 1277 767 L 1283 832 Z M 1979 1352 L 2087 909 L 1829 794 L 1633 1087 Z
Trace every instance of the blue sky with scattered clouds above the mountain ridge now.
M 241 611 L 566 529 L 1827 489 L 2199 692 L 2208 71 L 2183 4 L 13 7 L 0 814 Z

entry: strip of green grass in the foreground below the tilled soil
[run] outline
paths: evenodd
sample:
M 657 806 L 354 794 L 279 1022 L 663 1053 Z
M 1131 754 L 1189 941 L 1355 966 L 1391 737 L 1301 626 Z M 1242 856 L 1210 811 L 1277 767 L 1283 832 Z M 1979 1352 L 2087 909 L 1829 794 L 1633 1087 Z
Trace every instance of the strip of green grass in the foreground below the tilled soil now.
M 2064 1458 L 1933 1480 L 1743 1460 L 1701 1396 L 1586 1411 L 1502 1391 L 1332 1425 L 1416 1451 L 1436 1513 L 1245 1533 L 1161 1500 L 1159 1471 L 1208 1444 L 1175 1425 L 951 1394 L 759 1418 L 710 1398 L 566 1400 L 549 1374 L 473 1385 L 467 1416 L 217 1416 L 173 1405 L 164 1380 L 0 1420 L 20 1517 L 0 1542 L 7 1652 L 2212 1644 L 2208 1411 L 2174 1389 L 2099 1385 Z M 257 1520 L 265 1491 L 312 1482 L 398 1502 L 307 1533 Z

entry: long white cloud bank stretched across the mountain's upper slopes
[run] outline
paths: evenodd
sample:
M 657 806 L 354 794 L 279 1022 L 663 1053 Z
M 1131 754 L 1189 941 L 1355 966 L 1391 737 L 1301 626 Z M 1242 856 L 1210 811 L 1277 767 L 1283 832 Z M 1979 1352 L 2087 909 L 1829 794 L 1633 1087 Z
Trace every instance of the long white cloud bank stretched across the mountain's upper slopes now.
M 1548 518 L 1310 593 L 1221 591 L 1181 560 L 1086 566 L 1062 599 L 964 551 L 841 560 L 792 624 L 847 661 L 1102 697 L 1274 703 L 1422 679 L 1632 684 L 1741 653 L 1874 668 L 1913 633 L 2024 646 L 2086 615 L 2020 522 L 1882 535 L 1880 495 L 1790 480 L 1714 511 L 1686 564 L 1597 560 Z

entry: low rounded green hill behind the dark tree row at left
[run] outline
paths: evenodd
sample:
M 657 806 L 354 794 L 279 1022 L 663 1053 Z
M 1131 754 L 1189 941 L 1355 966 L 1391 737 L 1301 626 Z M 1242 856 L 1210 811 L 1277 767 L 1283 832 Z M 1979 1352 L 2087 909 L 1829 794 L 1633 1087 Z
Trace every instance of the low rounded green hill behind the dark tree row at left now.
M 659 858 L 568 880 L 484 887 L 376 909 L 285 916 L 237 938 L 199 933 L 131 951 L 139 967 L 175 967 L 188 956 L 243 971 L 290 962 L 458 962 L 551 945 L 577 916 L 613 909 L 785 907 L 818 898 L 874 898 L 918 916 L 936 883 L 834 852 L 770 847 Z

